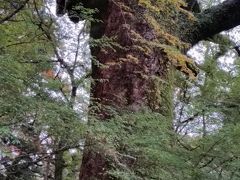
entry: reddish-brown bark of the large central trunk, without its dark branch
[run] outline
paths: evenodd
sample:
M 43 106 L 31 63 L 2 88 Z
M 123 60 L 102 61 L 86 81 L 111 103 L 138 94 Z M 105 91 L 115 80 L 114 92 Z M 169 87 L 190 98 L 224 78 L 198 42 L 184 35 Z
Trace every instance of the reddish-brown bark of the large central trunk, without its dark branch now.
M 152 7 L 154 6 L 153 4 Z M 191 64 L 191 61 L 180 53 L 187 48 L 187 44 L 178 37 L 180 27 L 172 27 L 175 22 L 171 22 L 171 14 L 161 14 L 160 18 L 169 18 L 169 23 L 164 25 L 158 23 L 148 11 L 144 3 L 118 0 L 109 1 L 107 11 L 102 16 L 103 34 L 114 37 L 121 47 L 101 47 L 92 51 L 93 56 L 104 65 L 93 67 L 95 82 L 92 97 L 100 106 L 95 113 L 101 120 L 112 116 L 109 108 L 117 112 L 137 112 L 147 108 L 169 117 L 171 122 L 172 65 L 190 75 L 192 71 L 186 63 Z M 180 12 L 175 12 L 177 11 Z M 187 12 L 185 13 L 181 15 L 189 21 Z M 93 37 L 94 33 L 95 31 L 92 32 Z M 171 48 L 179 50 L 176 51 L 176 57 L 181 56 L 182 63 L 179 59 L 168 57 L 174 56 Z M 163 89 L 168 95 L 161 91 Z M 122 162 L 116 157 L 110 157 L 112 154 L 104 152 L 106 150 L 99 151 L 96 146 L 91 146 L 92 143 L 93 139 L 87 140 L 80 179 L 110 179 L 107 172 L 113 167 L 112 164 Z

